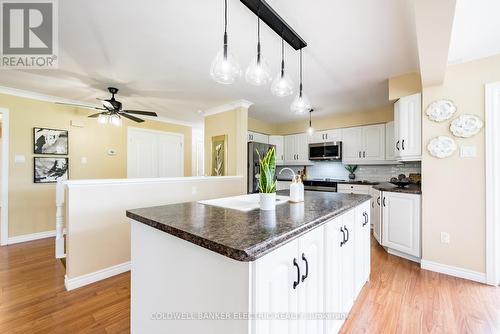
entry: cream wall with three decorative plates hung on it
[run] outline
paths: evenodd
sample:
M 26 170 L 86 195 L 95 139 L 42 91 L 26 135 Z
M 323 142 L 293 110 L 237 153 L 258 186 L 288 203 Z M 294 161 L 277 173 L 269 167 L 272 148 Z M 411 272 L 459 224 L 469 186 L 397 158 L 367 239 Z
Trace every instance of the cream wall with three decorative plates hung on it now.
M 424 87 L 423 109 L 437 99 L 450 99 L 457 114 L 484 119 L 484 85 L 500 81 L 500 55 L 449 66 L 442 86 Z M 450 121 L 436 123 L 423 116 L 422 250 L 423 259 L 485 272 L 485 138 L 484 131 L 469 139 L 455 138 L 458 146 L 477 148 L 477 157 L 431 157 L 430 139 L 447 135 Z M 450 243 L 440 242 L 450 233 Z

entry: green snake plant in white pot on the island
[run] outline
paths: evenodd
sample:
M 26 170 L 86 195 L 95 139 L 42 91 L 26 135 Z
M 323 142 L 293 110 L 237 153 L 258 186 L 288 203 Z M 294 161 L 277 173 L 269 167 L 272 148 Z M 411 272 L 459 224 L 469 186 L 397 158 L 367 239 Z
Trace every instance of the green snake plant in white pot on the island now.
M 263 158 L 259 152 L 259 193 L 261 210 L 274 210 L 276 208 L 276 150 L 272 147 Z

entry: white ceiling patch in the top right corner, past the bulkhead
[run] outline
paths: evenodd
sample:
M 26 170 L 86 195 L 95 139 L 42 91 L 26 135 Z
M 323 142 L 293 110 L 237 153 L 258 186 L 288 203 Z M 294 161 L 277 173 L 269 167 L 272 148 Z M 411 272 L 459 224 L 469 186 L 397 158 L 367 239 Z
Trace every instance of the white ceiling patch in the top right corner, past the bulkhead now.
M 448 63 L 463 63 L 499 54 L 499 15 L 498 0 L 458 0 Z

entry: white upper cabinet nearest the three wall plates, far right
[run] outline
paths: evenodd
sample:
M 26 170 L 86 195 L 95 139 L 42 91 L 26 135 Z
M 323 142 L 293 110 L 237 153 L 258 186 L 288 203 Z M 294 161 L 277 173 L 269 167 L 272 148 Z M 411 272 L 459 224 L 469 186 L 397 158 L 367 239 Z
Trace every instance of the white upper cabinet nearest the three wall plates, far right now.
M 394 153 L 400 161 L 422 159 L 422 94 L 394 103 Z

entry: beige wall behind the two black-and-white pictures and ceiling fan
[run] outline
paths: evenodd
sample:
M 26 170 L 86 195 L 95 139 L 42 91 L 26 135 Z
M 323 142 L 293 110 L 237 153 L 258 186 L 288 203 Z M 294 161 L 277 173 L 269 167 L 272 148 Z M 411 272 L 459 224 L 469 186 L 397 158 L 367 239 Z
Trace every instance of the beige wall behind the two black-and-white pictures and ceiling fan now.
M 91 110 L 57 105 L 10 95 L 0 95 L 0 107 L 10 111 L 9 236 L 55 229 L 55 185 L 33 183 L 33 127 L 69 130 L 71 179 L 127 177 L 127 127 L 141 127 L 184 135 L 184 170 L 191 175 L 191 128 L 147 120 L 143 124 L 124 120 L 122 128 L 100 126 L 87 116 Z M 70 121 L 84 124 L 71 127 Z M 108 156 L 114 148 L 118 154 Z M 14 155 L 25 163 L 14 163 Z M 81 164 L 80 158 L 88 163 Z

